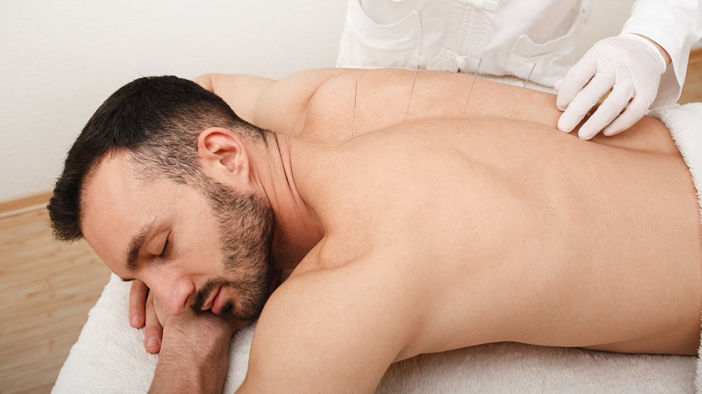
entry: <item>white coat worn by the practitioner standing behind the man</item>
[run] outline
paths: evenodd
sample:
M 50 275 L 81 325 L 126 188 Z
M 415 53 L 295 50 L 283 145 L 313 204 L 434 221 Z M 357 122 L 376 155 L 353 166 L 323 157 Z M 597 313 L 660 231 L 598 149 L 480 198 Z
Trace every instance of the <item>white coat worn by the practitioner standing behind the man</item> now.
M 590 0 L 349 0 L 338 67 L 402 67 L 512 75 L 553 86 L 574 53 Z M 670 54 L 655 104 L 680 97 L 701 0 L 638 0 L 622 32 Z

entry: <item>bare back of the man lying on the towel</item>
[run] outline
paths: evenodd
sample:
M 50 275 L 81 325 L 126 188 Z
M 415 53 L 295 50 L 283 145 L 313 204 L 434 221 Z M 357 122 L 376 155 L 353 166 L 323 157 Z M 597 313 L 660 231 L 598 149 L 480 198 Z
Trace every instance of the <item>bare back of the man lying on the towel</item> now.
M 393 78 L 407 76 L 398 73 Z M 354 81 L 332 79 L 330 91 L 352 91 Z M 293 168 L 326 236 L 291 279 L 379 250 L 404 251 L 374 264 L 417 280 L 406 302 L 430 313 L 417 345 L 398 359 L 486 341 L 695 353 L 698 205 L 661 123 L 644 118 L 620 136 L 585 142 L 555 129 L 552 95 L 529 92 L 506 118 L 500 98 L 513 88 L 476 83 L 497 99 L 463 114 L 458 90 L 444 97 L 456 108 L 431 109 L 438 93 L 427 89 L 442 81 L 424 90 L 420 81 L 407 122 L 399 104 L 380 106 L 397 102 L 399 83 L 387 84 L 388 97 L 381 87 L 367 100 L 359 88 L 356 135 L 322 144 L 324 127 L 351 131 L 331 114 L 353 96 L 325 98 L 322 86 L 312 98 L 315 121 L 294 146 Z M 373 128 L 371 109 L 380 130 L 364 134 Z

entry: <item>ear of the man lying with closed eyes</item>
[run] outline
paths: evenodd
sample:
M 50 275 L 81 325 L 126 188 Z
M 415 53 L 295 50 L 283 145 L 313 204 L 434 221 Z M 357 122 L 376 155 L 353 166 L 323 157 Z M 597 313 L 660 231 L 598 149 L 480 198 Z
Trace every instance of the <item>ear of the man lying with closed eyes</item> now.
M 249 179 L 249 152 L 241 137 L 225 128 L 208 128 L 197 137 L 202 170 L 216 182 L 241 184 Z

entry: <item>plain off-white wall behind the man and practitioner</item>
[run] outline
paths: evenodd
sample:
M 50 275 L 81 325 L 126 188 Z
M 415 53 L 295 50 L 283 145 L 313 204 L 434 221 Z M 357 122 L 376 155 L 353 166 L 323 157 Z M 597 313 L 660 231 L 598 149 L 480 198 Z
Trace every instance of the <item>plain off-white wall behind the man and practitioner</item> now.
M 51 189 L 95 108 L 141 75 L 333 67 L 345 0 L 0 0 L 0 201 Z M 633 0 L 592 0 L 578 48 Z

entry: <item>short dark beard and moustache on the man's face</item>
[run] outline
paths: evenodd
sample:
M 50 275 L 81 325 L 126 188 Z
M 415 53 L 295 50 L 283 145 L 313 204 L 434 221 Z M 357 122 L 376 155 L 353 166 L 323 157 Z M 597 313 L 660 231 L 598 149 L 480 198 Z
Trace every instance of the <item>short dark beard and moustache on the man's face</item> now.
M 201 311 L 216 287 L 229 287 L 237 292 L 237 301 L 224 300 L 220 315 L 255 320 L 263 311 L 273 278 L 273 210 L 258 194 L 241 193 L 217 182 L 208 182 L 203 192 L 218 219 L 224 275 L 210 278 L 197 291 L 192 308 Z

